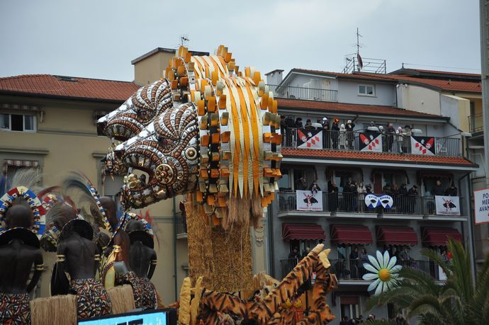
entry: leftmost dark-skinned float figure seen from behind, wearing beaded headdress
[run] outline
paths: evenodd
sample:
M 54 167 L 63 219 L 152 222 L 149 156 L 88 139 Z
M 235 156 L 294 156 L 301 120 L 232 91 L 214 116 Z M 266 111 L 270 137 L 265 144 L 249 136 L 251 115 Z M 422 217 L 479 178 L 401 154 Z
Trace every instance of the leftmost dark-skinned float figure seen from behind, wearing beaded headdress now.
M 30 324 L 29 292 L 44 268 L 38 238 L 44 218 L 39 198 L 25 186 L 0 198 L 0 324 Z

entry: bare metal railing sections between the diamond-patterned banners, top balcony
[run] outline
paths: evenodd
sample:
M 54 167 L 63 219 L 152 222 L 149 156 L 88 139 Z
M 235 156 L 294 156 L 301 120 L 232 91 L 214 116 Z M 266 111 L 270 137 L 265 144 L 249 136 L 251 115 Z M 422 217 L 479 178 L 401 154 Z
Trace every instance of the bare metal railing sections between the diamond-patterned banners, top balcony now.
M 307 129 L 300 129 L 307 132 Z M 311 129 L 315 130 L 315 129 Z M 377 136 L 377 135 L 375 135 Z M 322 131 L 315 135 L 320 137 L 322 149 L 359 152 L 364 148 L 361 132 Z M 456 137 L 433 137 L 434 154 L 436 156 L 461 156 L 460 139 Z M 411 137 L 407 135 L 381 135 L 381 148 L 378 152 L 390 152 L 394 154 L 413 154 L 411 151 Z M 282 145 L 289 148 L 305 148 L 303 141 L 298 138 L 296 127 L 283 129 Z M 318 149 L 318 148 L 313 148 Z

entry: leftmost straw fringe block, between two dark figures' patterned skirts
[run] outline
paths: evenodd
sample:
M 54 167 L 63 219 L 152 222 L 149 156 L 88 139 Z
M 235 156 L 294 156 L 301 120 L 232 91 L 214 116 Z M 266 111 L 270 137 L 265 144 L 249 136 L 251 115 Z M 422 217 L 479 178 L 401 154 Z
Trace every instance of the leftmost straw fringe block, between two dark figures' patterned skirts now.
M 32 325 L 77 324 L 77 296 L 59 295 L 30 302 Z

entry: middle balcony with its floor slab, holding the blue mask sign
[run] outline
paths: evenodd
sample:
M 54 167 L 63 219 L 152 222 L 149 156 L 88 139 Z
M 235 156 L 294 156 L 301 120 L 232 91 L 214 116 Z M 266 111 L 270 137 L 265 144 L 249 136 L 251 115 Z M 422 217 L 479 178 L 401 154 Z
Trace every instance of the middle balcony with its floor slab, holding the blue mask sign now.
M 437 215 L 434 196 L 391 195 L 393 207 L 371 209 L 365 205 L 362 193 L 321 193 L 322 211 L 297 210 L 294 191 L 278 193 L 279 217 L 364 217 L 383 219 L 427 219 L 465 221 L 463 198 L 459 197 L 460 215 Z

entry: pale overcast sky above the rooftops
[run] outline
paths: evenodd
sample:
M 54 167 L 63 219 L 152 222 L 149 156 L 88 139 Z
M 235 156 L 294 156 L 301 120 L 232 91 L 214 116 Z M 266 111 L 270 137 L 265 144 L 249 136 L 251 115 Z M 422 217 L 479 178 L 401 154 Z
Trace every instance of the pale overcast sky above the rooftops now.
M 405 65 L 480 72 L 478 0 L 0 0 L 0 76 L 60 74 L 133 80 L 155 47 L 230 48 L 262 73 L 340 72 L 355 52 Z M 438 66 L 438 67 L 434 67 Z M 476 69 L 476 70 L 473 70 Z

